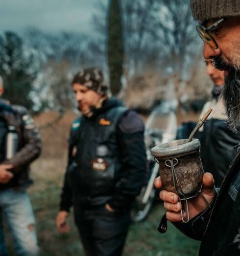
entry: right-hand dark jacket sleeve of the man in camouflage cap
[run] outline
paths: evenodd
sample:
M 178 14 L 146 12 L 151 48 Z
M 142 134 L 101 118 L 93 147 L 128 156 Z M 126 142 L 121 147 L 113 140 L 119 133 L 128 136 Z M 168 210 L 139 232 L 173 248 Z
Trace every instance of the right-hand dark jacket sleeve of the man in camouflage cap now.
M 108 204 L 116 211 L 130 209 L 140 194 L 147 171 L 144 145 L 144 123 L 134 111 L 120 118 L 118 126 L 122 169 L 115 186 L 115 193 Z

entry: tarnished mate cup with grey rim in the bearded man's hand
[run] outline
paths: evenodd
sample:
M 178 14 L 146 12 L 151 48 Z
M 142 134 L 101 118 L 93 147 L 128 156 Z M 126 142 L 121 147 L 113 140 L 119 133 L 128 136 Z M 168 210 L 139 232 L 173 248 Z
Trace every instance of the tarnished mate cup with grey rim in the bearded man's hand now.
M 174 193 L 176 192 L 175 189 L 177 189 L 177 193 L 180 198 L 190 198 L 197 195 L 201 189 L 202 177 L 204 174 L 202 162 L 200 159 L 199 140 L 194 139 L 189 143 L 187 143 L 187 141 L 188 140 L 175 140 L 172 143 L 160 145 L 158 148 L 155 147 L 152 150 L 152 154 L 157 158 L 159 162 L 160 176 L 164 188 L 169 192 Z M 176 145 L 175 149 L 172 149 L 174 147 L 173 145 Z M 169 155 L 169 153 L 172 152 L 177 152 L 177 154 Z M 175 163 L 173 170 L 171 165 L 169 166 L 168 164 L 171 163 L 171 160 L 173 163 Z M 176 174 L 178 181 L 176 182 L 175 180 L 175 185 L 178 183 L 176 188 L 174 187 L 174 181 L 172 177 L 173 172 Z

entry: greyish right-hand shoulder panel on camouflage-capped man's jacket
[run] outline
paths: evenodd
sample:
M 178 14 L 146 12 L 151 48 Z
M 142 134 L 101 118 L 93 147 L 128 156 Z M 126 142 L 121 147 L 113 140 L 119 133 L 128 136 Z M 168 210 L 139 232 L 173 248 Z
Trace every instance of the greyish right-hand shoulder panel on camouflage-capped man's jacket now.
M 124 133 L 144 131 L 144 122 L 135 111 L 128 110 L 121 117 L 119 122 L 119 128 Z

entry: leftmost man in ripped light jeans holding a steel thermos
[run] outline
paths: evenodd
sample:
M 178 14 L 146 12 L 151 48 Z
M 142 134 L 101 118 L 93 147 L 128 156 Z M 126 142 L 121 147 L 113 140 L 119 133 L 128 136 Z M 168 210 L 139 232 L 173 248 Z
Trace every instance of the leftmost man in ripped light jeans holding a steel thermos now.
M 3 92 L 0 77 L 0 96 Z M 38 256 L 35 218 L 26 188 L 32 183 L 29 164 L 41 152 L 41 139 L 28 111 L 23 106 L 11 105 L 2 99 L 0 145 L 0 256 L 8 255 L 3 216 L 10 228 L 16 255 Z

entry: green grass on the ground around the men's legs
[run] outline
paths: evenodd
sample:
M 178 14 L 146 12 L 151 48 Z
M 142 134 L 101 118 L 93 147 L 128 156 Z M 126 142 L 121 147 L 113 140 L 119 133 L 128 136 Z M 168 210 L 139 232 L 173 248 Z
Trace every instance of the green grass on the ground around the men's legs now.
M 41 256 L 83 256 L 77 230 L 72 216 L 69 219 L 71 232 L 59 234 L 55 228 L 58 212 L 60 186 L 49 181 L 44 191 L 30 193 L 37 219 L 38 240 Z M 152 209 L 146 221 L 132 224 L 126 241 L 123 256 L 196 256 L 199 242 L 184 236 L 168 223 L 168 231 L 160 234 L 156 229 L 164 213 L 162 204 Z M 8 247 L 14 256 L 11 240 Z

